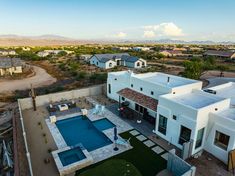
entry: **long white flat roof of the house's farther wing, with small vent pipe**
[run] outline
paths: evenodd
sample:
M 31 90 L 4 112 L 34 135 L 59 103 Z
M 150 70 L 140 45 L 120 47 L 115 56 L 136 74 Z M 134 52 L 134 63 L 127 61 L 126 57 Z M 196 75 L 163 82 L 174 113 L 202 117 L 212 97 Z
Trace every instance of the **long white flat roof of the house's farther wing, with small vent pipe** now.
M 169 75 L 169 74 L 160 73 L 160 72 L 136 74 L 134 75 L 134 77 L 144 79 L 145 81 L 148 81 L 154 84 L 167 86 L 170 88 L 199 82 L 197 80 L 192 80 L 192 79 Z M 169 82 L 168 82 L 168 78 L 169 78 Z

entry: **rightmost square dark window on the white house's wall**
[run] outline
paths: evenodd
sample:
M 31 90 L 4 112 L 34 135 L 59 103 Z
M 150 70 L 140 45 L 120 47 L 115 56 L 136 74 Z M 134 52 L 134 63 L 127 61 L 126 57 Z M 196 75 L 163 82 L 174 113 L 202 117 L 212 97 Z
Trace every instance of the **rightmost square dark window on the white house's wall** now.
M 227 150 L 230 136 L 221 133 L 219 131 L 215 132 L 215 142 L 214 144 L 223 150 Z

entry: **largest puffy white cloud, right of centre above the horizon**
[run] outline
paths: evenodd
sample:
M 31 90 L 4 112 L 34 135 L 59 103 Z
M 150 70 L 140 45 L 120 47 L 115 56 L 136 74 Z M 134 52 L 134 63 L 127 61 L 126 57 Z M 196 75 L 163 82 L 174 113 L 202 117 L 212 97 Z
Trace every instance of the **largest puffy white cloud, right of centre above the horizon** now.
M 184 36 L 182 29 L 172 22 L 161 23 L 158 25 L 144 26 L 143 28 L 145 29 L 144 34 L 146 31 L 152 31 L 157 36 L 166 36 L 166 37 Z

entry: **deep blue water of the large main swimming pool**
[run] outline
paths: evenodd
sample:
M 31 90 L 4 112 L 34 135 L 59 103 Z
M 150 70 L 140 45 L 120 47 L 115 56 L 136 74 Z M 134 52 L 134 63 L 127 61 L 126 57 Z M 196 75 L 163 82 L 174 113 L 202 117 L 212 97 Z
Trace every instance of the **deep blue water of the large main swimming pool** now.
M 68 146 L 81 143 L 88 151 L 104 147 L 112 141 L 85 116 L 76 116 L 56 122 Z

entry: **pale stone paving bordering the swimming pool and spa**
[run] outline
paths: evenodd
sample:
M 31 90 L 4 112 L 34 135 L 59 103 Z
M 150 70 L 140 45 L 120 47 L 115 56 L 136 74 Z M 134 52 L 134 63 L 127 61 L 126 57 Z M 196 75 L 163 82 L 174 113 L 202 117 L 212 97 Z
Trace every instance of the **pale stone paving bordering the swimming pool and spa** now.
M 130 126 L 125 121 L 123 121 L 117 115 L 113 114 L 107 108 L 104 109 L 102 114 L 93 114 L 93 112 L 94 112 L 94 109 L 89 109 L 88 113 L 86 115 L 87 118 L 91 122 L 94 122 L 96 120 L 101 120 L 101 119 L 105 119 L 106 118 L 107 120 L 109 120 L 111 123 L 113 123 L 116 126 L 118 134 L 133 129 L 132 126 Z M 56 118 L 57 118 L 57 121 L 59 121 L 59 120 L 64 120 L 64 119 L 68 119 L 68 118 L 73 118 L 73 117 L 79 116 L 79 115 L 82 115 L 82 113 L 78 112 L 78 113 L 68 114 L 68 115 L 65 115 L 65 116 L 58 116 Z M 54 139 L 57 147 L 58 147 L 58 150 L 56 150 L 56 151 L 57 152 L 62 152 L 62 151 L 70 149 L 71 147 L 66 144 L 66 142 L 65 142 L 62 134 L 60 133 L 59 129 L 57 128 L 56 124 L 55 123 L 51 123 L 50 120 L 49 120 L 49 117 L 47 119 L 45 119 L 45 121 L 46 121 L 46 124 L 47 124 L 47 126 L 48 126 L 48 128 L 49 128 L 49 130 L 50 130 L 50 132 L 51 132 L 51 134 L 53 136 L 53 139 Z M 113 130 L 113 128 L 106 129 L 106 130 L 103 130 L 101 132 L 112 141 L 112 144 L 103 146 L 101 148 L 95 149 L 95 150 L 90 151 L 90 152 L 88 152 L 84 148 L 89 153 L 89 155 L 92 158 L 92 162 L 90 161 L 89 165 L 97 163 L 97 162 L 100 162 L 100 161 L 103 161 L 105 159 L 108 159 L 110 157 L 113 157 L 113 156 L 115 156 L 117 154 L 123 153 L 123 152 L 128 151 L 128 150 L 133 148 L 131 145 L 129 145 L 129 146 L 120 146 L 120 145 L 118 145 L 119 150 L 115 151 L 115 150 L 113 150 L 114 147 L 115 147 L 115 144 L 114 144 L 114 130 Z M 118 138 L 122 138 L 122 137 L 118 135 Z M 56 153 L 56 151 L 53 151 L 53 152 Z M 53 155 L 53 157 L 54 157 L 54 155 Z M 61 163 L 59 156 L 57 157 L 55 155 L 54 159 L 55 159 L 56 163 Z M 70 165 L 71 165 L 72 168 L 75 168 L 74 165 L 78 165 L 76 169 L 77 170 L 81 169 L 81 168 L 79 168 L 79 163 L 78 162 L 72 163 Z M 70 166 L 70 165 L 68 165 L 68 166 Z M 60 172 L 60 174 L 63 174 L 64 172 L 68 173 L 66 171 L 66 169 L 64 171 L 64 169 L 61 166 L 63 166 L 62 163 L 61 163 L 61 165 L 59 164 L 58 167 L 57 167 L 59 172 Z M 65 167 L 68 169 L 68 166 L 65 166 Z M 88 166 L 88 165 L 86 165 L 86 166 Z M 84 166 L 84 167 L 86 167 L 86 166 Z M 68 170 L 70 170 L 70 173 L 73 171 L 73 169 L 68 169 Z

